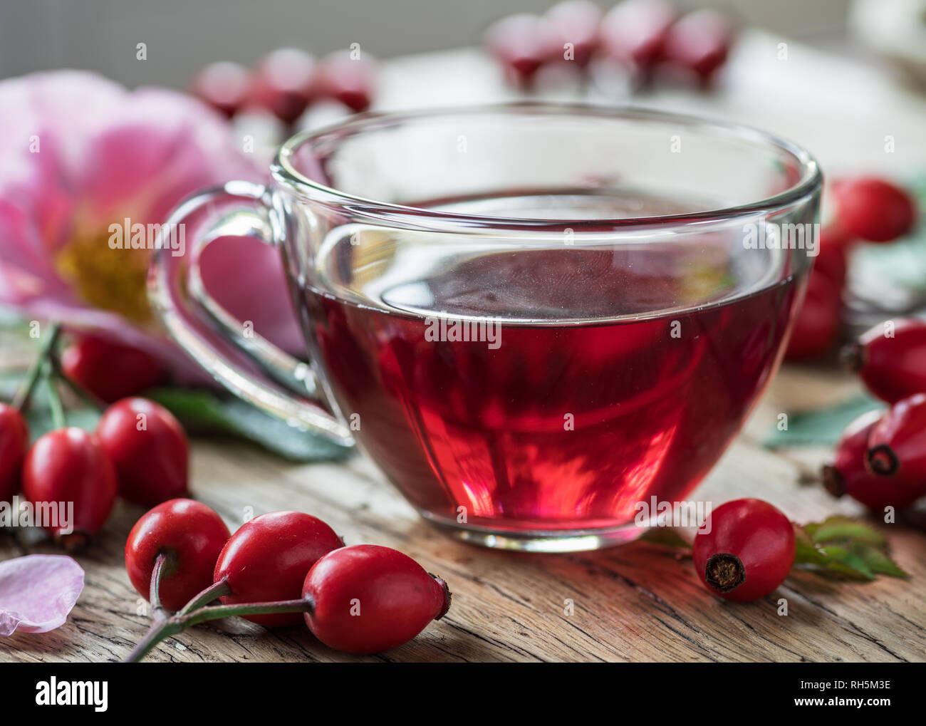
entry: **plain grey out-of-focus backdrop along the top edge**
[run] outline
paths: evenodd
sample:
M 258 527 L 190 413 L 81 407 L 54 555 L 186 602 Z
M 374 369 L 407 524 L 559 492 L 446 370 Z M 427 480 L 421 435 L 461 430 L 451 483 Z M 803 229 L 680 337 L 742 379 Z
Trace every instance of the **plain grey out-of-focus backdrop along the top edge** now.
M 540 13 L 551 4 L 547 0 L 3 0 L 0 76 L 72 67 L 98 70 L 131 86 L 179 87 L 196 69 L 217 58 L 251 64 L 280 45 L 324 54 L 359 43 L 382 57 L 470 45 L 494 19 L 516 12 Z M 831 46 L 845 40 L 850 5 L 850 0 L 680 3 L 716 7 L 747 25 Z M 148 44 L 148 61 L 130 62 L 139 42 Z

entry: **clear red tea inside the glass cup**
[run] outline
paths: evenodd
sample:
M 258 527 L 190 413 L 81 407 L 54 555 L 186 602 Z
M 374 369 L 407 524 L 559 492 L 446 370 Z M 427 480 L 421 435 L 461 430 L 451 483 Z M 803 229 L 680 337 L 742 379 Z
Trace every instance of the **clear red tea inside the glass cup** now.
M 795 296 L 761 283 L 766 253 L 727 245 L 370 234 L 303 288 L 328 393 L 415 507 L 495 532 L 619 527 L 682 499 L 769 380 Z

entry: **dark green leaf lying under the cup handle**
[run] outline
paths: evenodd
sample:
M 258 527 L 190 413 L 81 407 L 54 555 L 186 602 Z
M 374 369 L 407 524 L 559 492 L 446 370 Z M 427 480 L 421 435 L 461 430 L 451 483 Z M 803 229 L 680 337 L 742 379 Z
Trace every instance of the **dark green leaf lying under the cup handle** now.
M 156 388 L 144 395 L 168 408 L 188 429 L 232 433 L 291 461 L 342 459 L 351 452 L 231 396 L 187 388 Z

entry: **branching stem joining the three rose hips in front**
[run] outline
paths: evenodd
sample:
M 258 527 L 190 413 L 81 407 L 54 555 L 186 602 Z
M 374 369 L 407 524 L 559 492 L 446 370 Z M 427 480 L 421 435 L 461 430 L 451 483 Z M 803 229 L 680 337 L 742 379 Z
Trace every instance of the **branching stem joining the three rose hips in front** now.
M 152 598 L 156 594 L 156 578 L 158 577 L 157 563 L 161 562 L 161 557 L 157 557 L 155 572 L 151 576 L 151 593 Z M 293 613 L 293 612 L 311 612 L 315 609 L 315 602 L 311 598 L 299 598 L 297 600 L 278 600 L 272 603 L 243 603 L 235 605 L 213 605 L 209 606 L 213 600 L 221 595 L 230 595 L 232 589 L 228 586 L 225 579 L 219 580 L 207 587 L 199 595 L 187 603 L 180 612 L 175 615 L 166 616 L 156 620 L 151 628 L 144 634 L 144 638 L 131 649 L 131 653 L 123 658 L 123 663 L 137 663 L 144 658 L 151 650 L 162 640 L 185 631 L 194 625 L 206 620 L 219 620 L 222 618 L 234 618 L 243 615 L 270 615 L 275 613 Z M 155 607 L 154 599 L 152 607 Z M 163 612 L 163 611 L 162 611 Z

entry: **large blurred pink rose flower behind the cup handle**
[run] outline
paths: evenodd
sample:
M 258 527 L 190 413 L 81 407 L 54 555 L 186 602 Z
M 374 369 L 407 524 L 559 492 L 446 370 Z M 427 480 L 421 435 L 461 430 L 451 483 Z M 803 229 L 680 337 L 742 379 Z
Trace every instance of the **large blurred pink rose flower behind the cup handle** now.
M 193 370 L 148 307 L 151 251 L 113 249 L 110 226 L 162 223 L 203 187 L 259 181 L 231 127 L 186 94 L 128 91 L 74 70 L 0 81 L 0 108 L 0 305 L 142 348 L 175 372 Z M 209 292 L 272 342 L 298 350 L 276 250 L 251 241 L 229 249 L 204 257 Z

